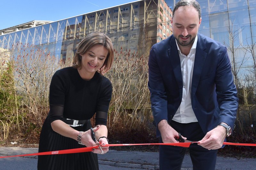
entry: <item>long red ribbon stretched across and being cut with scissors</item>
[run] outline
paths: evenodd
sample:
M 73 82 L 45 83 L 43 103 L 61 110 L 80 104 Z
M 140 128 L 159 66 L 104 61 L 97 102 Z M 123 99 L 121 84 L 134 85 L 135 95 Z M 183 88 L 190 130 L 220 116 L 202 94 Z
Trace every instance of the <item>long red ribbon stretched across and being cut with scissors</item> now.
M 198 143 L 198 142 L 192 142 Z M 172 146 L 181 146 L 188 148 L 190 146 L 188 143 L 137 143 L 137 144 L 106 144 L 105 146 L 134 146 L 134 145 L 172 145 Z M 239 145 L 239 146 L 256 146 L 256 143 L 229 143 L 224 142 L 224 145 Z M 0 158 L 9 158 L 9 157 L 24 157 L 24 156 L 35 156 L 35 155 L 57 155 L 57 154 L 66 154 L 66 153 L 81 153 L 81 152 L 91 152 L 93 148 L 98 148 L 99 146 L 85 147 L 85 148 L 76 148 L 76 149 L 67 149 L 61 151 L 48 151 L 48 152 L 39 152 L 39 153 L 30 153 L 23 155 L 12 155 L 12 156 L 3 156 Z

